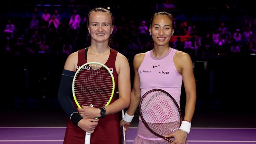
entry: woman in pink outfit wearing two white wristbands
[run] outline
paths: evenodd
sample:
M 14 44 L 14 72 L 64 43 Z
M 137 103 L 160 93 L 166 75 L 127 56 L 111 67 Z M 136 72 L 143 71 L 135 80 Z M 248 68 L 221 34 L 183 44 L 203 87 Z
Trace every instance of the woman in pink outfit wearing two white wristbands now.
M 134 57 L 135 77 L 130 107 L 120 125 L 124 125 L 126 131 L 128 131 L 141 96 L 148 90 L 163 89 L 171 94 L 180 105 L 180 91 L 183 80 L 186 90 L 184 120 L 178 131 L 167 134 L 165 137 L 174 137 L 172 144 L 187 144 L 187 134 L 190 131 L 191 120 L 195 111 L 196 86 L 190 56 L 169 46 L 169 41 L 174 33 L 173 23 L 174 18 L 170 13 L 158 12 L 153 15 L 149 32 L 154 41 L 154 48 Z M 151 133 L 139 118 L 134 144 L 165 143 L 169 142 Z

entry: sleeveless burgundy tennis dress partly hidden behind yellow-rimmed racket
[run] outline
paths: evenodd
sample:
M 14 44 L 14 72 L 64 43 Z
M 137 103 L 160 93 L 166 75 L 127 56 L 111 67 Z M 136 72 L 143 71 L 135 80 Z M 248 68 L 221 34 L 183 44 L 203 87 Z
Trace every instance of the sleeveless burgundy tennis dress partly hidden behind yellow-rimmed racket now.
M 85 49 L 78 50 L 78 68 L 83 64 L 87 63 L 86 56 L 87 51 Z M 115 60 L 117 57 L 117 51 L 111 49 L 110 55 L 105 63 L 106 66 L 112 71 L 115 79 L 115 92 L 110 103 L 117 100 L 117 85 L 118 85 L 118 75 L 115 69 Z M 74 103 L 77 108 L 77 105 Z M 65 133 L 65 138 L 63 144 L 84 144 L 85 141 L 85 131 L 80 129 L 80 127 L 74 126 L 74 124 L 68 120 L 67 129 Z M 99 118 L 98 125 L 95 131 L 91 134 L 91 144 L 121 144 L 121 133 L 119 127 L 119 117 L 118 113 L 107 115 L 105 118 Z

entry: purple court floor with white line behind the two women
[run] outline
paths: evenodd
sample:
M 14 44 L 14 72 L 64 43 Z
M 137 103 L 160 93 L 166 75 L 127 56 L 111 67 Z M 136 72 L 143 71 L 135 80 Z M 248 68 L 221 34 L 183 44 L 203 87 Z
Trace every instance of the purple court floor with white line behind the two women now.
M 137 128 L 126 133 L 132 144 Z M 0 144 L 62 144 L 65 127 L 0 127 Z M 189 144 L 256 144 L 256 128 L 192 128 Z

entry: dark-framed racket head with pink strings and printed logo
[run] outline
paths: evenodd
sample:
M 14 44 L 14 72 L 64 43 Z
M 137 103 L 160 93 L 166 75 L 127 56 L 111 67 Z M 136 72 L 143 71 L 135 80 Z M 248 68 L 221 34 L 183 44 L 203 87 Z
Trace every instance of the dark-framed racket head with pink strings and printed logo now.
M 180 128 L 180 107 L 166 91 L 153 89 L 146 92 L 140 101 L 139 110 L 145 126 L 158 137 L 164 138 Z

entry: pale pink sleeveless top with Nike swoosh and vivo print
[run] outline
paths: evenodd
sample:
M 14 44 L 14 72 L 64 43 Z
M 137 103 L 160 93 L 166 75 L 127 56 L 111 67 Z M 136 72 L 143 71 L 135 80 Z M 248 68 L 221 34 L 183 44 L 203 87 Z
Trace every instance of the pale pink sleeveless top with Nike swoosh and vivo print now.
M 178 50 L 169 48 L 162 57 L 155 57 L 153 50 L 145 53 L 139 67 L 141 97 L 152 89 L 162 89 L 171 94 L 180 106 L 182 76 L 174 66 L 173 55 Z

